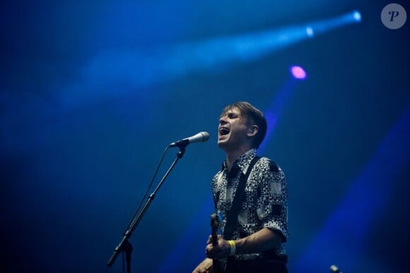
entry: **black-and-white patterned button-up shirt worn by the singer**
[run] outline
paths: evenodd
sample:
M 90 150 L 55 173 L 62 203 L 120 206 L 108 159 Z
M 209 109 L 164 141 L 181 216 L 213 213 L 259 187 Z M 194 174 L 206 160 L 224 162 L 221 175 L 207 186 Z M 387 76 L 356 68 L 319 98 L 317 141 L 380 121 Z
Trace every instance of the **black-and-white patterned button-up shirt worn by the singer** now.
M 221 216 L 222 234 L 225 230 L 226 214 L 232 206 L 241 173 L 245 175 L 255 156 L 256 149 L 247 151 L 233 163 L 230 172 L 226 161 L 223 161 L 222 169 L 213 177 L 213 200 L 216 211 Z M 262 228 L 276 231 L 283 237 L 283 242 L 288 237 L 288 193 L 285 175 L 279 165 L 265 157 L 257 161 L 247 179 L 233 239 L 250 236 Z M 277 255 L 285 254 L 284 243 L 275 252 Z M 266 258 L 265 254 L 235 255 L 237 260 L 260 258 Z

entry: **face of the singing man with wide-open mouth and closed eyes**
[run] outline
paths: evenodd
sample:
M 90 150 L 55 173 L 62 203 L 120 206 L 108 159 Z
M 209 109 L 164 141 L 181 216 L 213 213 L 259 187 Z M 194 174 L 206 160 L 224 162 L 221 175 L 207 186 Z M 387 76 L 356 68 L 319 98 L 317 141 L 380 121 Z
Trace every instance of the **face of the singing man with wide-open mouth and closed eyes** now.
M 250 126 L 237 108 L 228 110 L 219 119 L 218 146 L 225 151 L 235 151 L 248 140 Z

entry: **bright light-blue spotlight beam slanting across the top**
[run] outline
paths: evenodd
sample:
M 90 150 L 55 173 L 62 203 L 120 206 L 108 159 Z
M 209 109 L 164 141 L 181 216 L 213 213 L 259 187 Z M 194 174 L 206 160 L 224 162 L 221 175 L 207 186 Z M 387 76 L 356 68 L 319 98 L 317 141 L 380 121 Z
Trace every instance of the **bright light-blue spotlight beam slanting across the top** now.
M 361 18 L 353 11 L 334 18 L 274 30 L 218 37 L 156 50 L 101 52 L 81 69 L 81 81 L 65 88 L 61 106 L 76 108 L 93 100 L 161 83 L 192 71 L 218 71 L 238 62 L 252 62 L 310 37 Z

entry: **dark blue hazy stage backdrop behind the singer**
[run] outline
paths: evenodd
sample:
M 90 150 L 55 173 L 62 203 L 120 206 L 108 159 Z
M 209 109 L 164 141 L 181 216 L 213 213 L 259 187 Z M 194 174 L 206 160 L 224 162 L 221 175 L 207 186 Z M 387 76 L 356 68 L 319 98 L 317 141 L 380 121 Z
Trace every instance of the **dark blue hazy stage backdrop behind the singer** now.
M 410 12 L 409 1 L 397 2 Z M 332 264 L 345 273 L 406 272 L 410 32 L 409 22 L 382 25 L 387 4 L 3 1 L 1 271 L 121 272 L 121 257 L 112 268 L 107 260 L 165 146 L 207 131 L 209 141 L 188 147 L 130 240 L 133 272 L 192 272 L 210 230 L 210 180 L 224 159 L 221 109 L 247 100 L 275 111 L 283 91 L 291 96 L 261 153 L 287 175 L 291 272 Z M 354 9 L 360 24 L 250 62 L 178 72 L 163 57 L 183 42 Z M 305 81 L 291 79 L 293 64 L 307 71 Z

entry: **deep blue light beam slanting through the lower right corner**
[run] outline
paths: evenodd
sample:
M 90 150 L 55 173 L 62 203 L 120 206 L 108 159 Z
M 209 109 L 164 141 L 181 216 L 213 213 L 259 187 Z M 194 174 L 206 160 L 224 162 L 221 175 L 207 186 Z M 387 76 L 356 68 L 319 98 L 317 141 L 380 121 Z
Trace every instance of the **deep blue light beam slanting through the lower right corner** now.
M 358 270 L 365 260 L 366 234 L 394 198 L 395 178 L 406 170 L 410 161 L 409 124 L 410 107 L 387 133 L 373 158 L 290 271 L 319 272 L 334 259 L 344 265 L 346 272 Z M 371 268 L 364 271 L 373 272 Z

